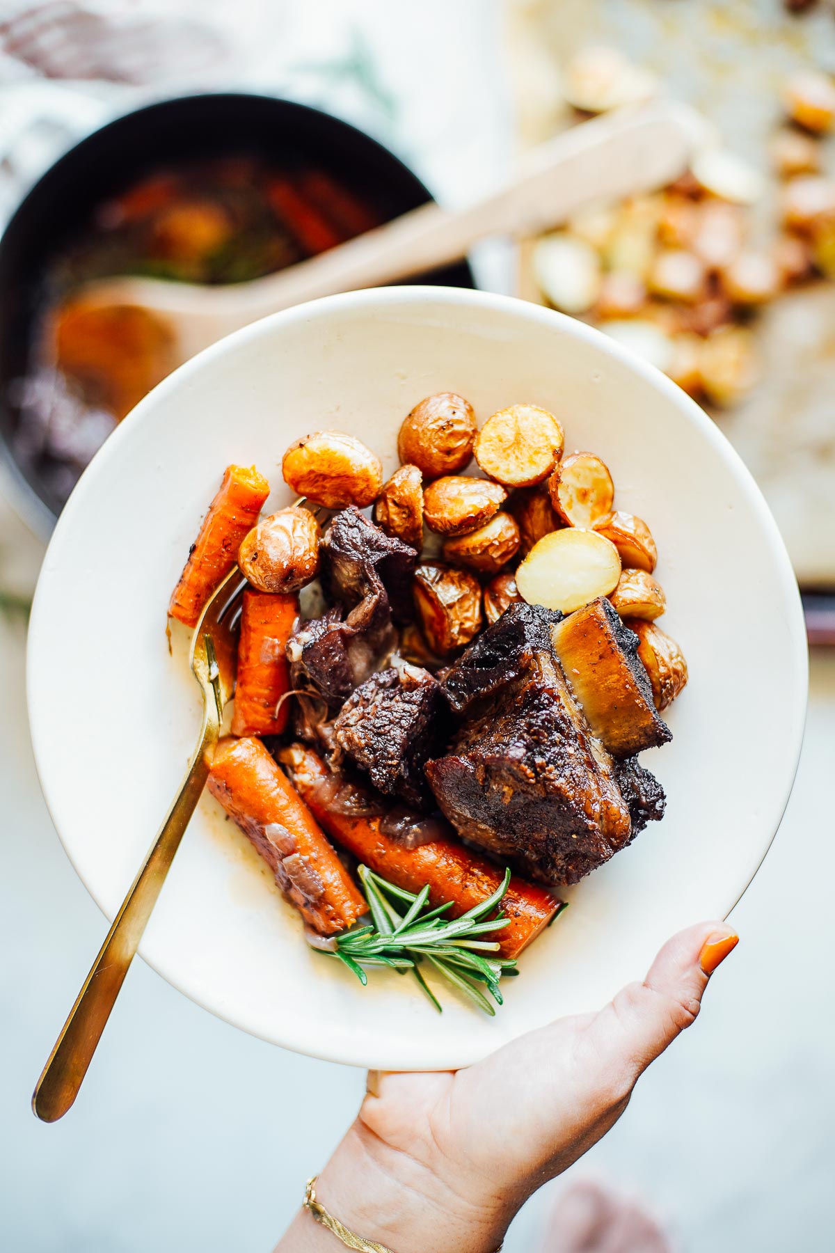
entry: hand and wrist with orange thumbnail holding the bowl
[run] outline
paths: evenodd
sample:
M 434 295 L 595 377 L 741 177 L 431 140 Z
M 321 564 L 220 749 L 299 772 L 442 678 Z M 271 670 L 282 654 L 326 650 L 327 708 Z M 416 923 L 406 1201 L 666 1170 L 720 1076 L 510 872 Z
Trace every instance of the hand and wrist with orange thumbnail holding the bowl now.
M 527 1197 L 617 1121 L 736 941 L 722 922 L 690 927 L 600 1012 L 560 1019 L 467 1070 L 372 1071 L 318 1199 L 397 1253 L 496 1249 Z M 302 1213 L 277 1253 L 336 1247 Z

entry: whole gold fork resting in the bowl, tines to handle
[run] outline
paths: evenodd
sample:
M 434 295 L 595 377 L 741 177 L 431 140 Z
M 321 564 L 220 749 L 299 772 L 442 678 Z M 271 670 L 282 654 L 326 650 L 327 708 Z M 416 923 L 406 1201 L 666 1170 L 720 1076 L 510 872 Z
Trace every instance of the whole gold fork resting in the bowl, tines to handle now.
M 194 635 L 190 662 L 203 692 L 203 725 L 179 796 L 136 875 L 121 908 L 113 920 L 93 970 L 55 1041 L 31 1099 L 44 1123 L 66 1114 L 93 1060 L 110 1010 L 115 1005 L 128 967 L 156 903 L 165 876 L 179 848 L 200 793 L 209 777 L 212 753 L 220 734 L 223 710 L 235 679 L 234 628 L 247 580 L 235 569 L 223 580 L 208 603 Z

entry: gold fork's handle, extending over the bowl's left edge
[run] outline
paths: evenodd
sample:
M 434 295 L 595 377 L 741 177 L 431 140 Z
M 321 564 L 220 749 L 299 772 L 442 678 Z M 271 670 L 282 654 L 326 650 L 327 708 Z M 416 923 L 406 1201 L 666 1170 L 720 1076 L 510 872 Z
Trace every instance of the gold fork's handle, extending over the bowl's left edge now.
M 209 777 L 210 749 L 218 742 L 219 725 L 212 708 L 207 709 L 200 741 L 189 763 L 179 796 L 174 801 L 156 840 L 145 857 L 121 908 L 113 920 L 101 951 L 84 980 L 75 1005 L 55 1041 L 35 1086 L 33 1110 L 44 1123 L 66 1114 L 78 1096 L 93 1054 L 101 1039 L 110 1010 L 139 941 L 156 903 L 165 876 L 179 848 L 183 832 L 200 799 Z

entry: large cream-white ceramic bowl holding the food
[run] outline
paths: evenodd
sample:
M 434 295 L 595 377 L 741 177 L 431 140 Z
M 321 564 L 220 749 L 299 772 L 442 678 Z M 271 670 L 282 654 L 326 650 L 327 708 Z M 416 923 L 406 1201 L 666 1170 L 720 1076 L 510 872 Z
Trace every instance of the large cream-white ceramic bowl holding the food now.
M 438 1016 L 396 974 L 372 971 L 363 989 L 313 952 L 204 797 L 143 956 L 247 1031 L 383 1069 L 464 1065 L 593 1009 L 641 977 L 671 932 L 726 915 L 780 822 L 806 700 L 804 623 L 775 524 L 716 426 L 662 375 L 580 322 L 506 297 L 409 287 L 318 301 L 233 335 L 156 387 L 83 476 L 46 554 L 29 638 L 35 757 L 64 846 L 109 918 L 195 739 L 198 688 L 184 633 L 169 657 L 165 606 L 223 467 L 255 462 L 272 505 L 285 504 L 284 449 L 336 427 L 391 472 L 403 416 L 441 390 L 467 396 L 481 420 L 515 401 L 542 405 L 568 447 L 606 460 L 617 505 L 657 540 L 663 626 L 690 685 L 669 712 L 674 742 L 643 757 L 667 792 L 663 822 L 568 892 L 571 908 L 525 954 L 494 1019 L 451 991 Z

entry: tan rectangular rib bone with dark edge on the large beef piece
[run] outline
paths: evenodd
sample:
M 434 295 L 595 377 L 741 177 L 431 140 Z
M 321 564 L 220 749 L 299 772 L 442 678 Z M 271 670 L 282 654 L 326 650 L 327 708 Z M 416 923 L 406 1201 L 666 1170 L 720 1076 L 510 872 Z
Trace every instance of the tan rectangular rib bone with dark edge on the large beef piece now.
M 672 739 L 652 702 L 652 685 L 637 655 L 637 635 L 605 596 L 568 614 L 552 635 L 592 734 L 612 757 L 633 757 Z

